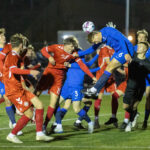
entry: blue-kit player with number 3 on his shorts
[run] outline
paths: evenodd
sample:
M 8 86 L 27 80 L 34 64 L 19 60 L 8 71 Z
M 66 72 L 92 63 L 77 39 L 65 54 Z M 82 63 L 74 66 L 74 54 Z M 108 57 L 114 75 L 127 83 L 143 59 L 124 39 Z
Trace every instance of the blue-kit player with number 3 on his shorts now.
M 91 61 L 86 62 L 84 57 L 81 57 L 82 61 L 90 67 L 95 60 L 98 58 L 98 55 L 96 55 Z M 96 72 L 100 68 L 94 68 L 90 69 L 91 72 Z M 56 133 L 63 132 L 61 120 L 67 113 L 71 102 L 73 105 L 74 112 L 79 116 L 80 120 L 85 120 L 88 123 L 88 132 L 93 132 L 93 122 L 89 118 L 87 111 L 89 110 L 88 106 L 84 106 L 83 109 L 81 109 L 81 100 L 83 99 L 83 94 L 81 93 L 81 90 L 83 89 L 83 81 L 84 81 L 85 73 L 81 70 L 80 66 L 77 64 L 77 62 L 71 63 L 70 68 L 67 71 L 66 74 L 66 80 L 62 87 L 61 94 L 60 94 L 60 101 L 65 100 L 65 104 L 63 108 L 60 111 L 57 111 L 56 113 L 56 123 L 57 126 L 54 129 Z M 84 102 L 86 100 L 84 99 Z M 86 101 L 87 102 L 87 101 Z

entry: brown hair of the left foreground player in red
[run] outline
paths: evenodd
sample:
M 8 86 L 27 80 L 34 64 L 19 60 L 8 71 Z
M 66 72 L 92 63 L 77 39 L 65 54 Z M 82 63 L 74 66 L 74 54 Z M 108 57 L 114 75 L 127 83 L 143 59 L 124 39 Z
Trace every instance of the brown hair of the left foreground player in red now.
M 10 43 L 12 45 L 12 48 L 14 48 L 14 47 L 18 47 L 21 43 L 23 44 L 23 40 L 21 37 L 17 37 L 13 35 L 10 38 Z

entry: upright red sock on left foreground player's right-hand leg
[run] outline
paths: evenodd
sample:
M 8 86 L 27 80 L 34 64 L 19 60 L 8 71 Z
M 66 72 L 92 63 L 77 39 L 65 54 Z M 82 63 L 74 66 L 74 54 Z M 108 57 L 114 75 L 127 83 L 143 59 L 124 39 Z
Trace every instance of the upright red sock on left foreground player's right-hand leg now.
M 43 114 L 44 114 L 44 109 L 36 109 L 35 111 L 36 132 L 42 131 Z

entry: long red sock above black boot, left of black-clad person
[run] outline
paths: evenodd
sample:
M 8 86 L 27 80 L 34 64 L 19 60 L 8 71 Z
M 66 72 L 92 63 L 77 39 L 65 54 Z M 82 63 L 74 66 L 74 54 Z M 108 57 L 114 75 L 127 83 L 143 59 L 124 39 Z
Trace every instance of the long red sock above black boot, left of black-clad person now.
M 115 92 L 112 95 L 112 101 L 111 101 L 112 114 L 114 114 L 115 116 L 116 116 L 117 110 L 118 110 L 118 98 L 119 98 L 119 95 L 117 92 Z

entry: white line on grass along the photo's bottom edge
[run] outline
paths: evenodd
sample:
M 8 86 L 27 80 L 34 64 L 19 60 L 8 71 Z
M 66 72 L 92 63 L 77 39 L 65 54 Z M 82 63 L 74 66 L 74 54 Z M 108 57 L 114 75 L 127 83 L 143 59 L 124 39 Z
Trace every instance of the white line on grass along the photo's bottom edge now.
M 0 146 L 1 148 L 60 148 L 60 149 L 69 149 L 69 148 L 83 148 L 83 149 L 150 149 L 150 146 L 27 146 L 27 145 L 18 145 L 18 146 Z

